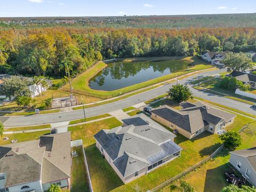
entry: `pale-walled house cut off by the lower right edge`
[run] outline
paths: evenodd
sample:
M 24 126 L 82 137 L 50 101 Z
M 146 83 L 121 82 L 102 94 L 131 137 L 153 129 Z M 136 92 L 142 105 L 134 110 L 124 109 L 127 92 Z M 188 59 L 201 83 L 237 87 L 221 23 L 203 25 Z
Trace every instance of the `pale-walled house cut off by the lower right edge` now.
M 230 152 L 229 163 L 256 187 L 256 147 Z

